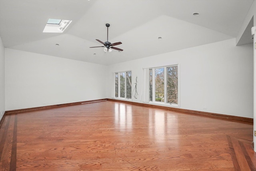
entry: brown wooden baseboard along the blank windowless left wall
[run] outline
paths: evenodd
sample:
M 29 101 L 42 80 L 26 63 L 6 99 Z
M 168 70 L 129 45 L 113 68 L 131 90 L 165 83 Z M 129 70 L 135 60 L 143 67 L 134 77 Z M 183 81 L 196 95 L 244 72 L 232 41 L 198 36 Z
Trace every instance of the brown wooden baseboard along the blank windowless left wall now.
M 41 107 L 32 107 L 32 108 L 26 108 L 26 109 L 16 109 L 16 110 L 8 110 L 5 113 L 6 114 L 13 114 L 13 113 L 23 113 L 28 111 L 37 111 L 37 110 L 44 110 L 44 109 L 52 109 L 55 107 L 65 107 L 70 105 L 80 105 L 85 103 L 92 103 L 92 102 L 98 102 L 98 101 L 106 101 L 107 99 L 97 99 L 97 100 L 89 100 L 89 101 L 79 101 L 74 103 L 64 103 L 64 104 L 58 104 L 58 105 L 48 105 L 48 106 L 41 106 Z

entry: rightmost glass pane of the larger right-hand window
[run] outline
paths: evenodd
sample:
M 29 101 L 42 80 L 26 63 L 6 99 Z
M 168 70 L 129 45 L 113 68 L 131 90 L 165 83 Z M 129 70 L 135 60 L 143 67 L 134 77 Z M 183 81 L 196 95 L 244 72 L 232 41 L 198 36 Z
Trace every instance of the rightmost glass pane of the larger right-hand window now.
M 167 103 L 178 103 L 178 66 L 167 68 Z

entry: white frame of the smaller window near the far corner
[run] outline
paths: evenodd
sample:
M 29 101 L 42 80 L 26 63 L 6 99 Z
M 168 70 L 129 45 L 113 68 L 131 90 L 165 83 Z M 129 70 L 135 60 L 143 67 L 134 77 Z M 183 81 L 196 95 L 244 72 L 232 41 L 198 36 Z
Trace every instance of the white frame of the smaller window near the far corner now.
M 132 85 L 131 85 L 131 98 L 127 98 L 127 73 L 131 73 L 131 84 L 132 84 L 132 71 L 114 72 L 114 98 L 132 100 Z M 120 75 L 124 73 L 124 97 L 120 97 Z M 116 74 L 118 74 L 118 97 L 116 97 Z

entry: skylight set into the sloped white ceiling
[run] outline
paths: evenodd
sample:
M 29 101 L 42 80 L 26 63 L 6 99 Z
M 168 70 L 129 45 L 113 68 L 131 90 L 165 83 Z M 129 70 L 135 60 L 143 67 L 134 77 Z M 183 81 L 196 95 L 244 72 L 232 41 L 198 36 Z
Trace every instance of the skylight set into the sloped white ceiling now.
M 49 18 L 44 28 L 44 33 L 62 33 L 72 20 L 62 20 Z

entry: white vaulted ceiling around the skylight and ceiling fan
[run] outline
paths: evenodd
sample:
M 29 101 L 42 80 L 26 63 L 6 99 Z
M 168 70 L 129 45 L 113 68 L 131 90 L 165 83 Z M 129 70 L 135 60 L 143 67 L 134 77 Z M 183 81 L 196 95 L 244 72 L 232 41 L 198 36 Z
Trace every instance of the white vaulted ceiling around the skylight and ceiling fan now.
M 253 1 L 0 0 L 0 36 L 6 48 L 110 65 L 235 38 Z M 72 23 L 43 33 L 48 18 Z M 106 42 L 106 23 L 124 51 L 89 48 Z

